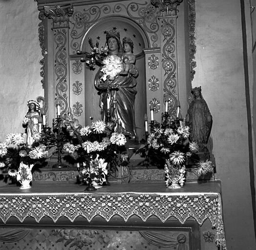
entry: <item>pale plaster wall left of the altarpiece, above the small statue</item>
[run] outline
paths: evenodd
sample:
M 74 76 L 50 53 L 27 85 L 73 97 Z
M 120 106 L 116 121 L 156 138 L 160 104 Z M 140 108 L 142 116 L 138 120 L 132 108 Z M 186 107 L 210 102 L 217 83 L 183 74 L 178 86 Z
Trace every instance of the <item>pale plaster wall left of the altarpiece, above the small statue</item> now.
M 27 101 L 43 96 L 38 13 L 33 0 L 0 0 L 0 142 L 24 132 Z

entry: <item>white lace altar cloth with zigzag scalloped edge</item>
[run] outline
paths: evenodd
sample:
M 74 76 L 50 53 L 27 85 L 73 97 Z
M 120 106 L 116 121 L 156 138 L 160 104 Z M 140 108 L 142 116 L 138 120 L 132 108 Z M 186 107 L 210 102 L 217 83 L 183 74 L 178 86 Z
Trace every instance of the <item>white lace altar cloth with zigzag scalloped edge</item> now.
M 132 215 L 144 222 L 154 215 L 163 223 L 174 216 L 181 224 L 193 217 L 201 226 L 208 218 L 216 228 L 216 245 L 226 250 L 219 193 L 35 193 L 0 194 L 0 219 L 14 216 L 21 222 L 28 216 L 36 222 L 49 216 L 54 222 L 65 216 L 73 222 L 84 216 L 89 222 L 97 215 L 109 221 L 119 215 L 128 221 Z

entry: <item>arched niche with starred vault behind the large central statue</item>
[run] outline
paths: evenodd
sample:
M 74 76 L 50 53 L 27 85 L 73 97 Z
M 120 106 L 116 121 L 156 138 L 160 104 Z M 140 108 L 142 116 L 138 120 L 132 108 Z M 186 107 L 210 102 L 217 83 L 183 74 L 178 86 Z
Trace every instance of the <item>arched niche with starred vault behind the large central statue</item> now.
M 145 134 L 144 114 L 147 113 L 147 96 L 146 96 L 146 70 L 145 55 L 143 49 L 149 47 L 149 39 L 144 30 L 134 21 L 123 16 L 111 16 L 102 19 L 92 25 L 82 39 L 80 49 L 82 51 L 90 51 L 88 38 L 90 37 L 95 44 L 96 39 L 99 40 L 99 47 L 106 43 L 106 32 L 115 28 L 120 32 L 121 41 L 124 37 L 130 37 L 134 44 L 133 54 L 136 56 L 136 68 L 139 71 L 137 78 L 137 95 L 135 98 L 135 124 L 136 131 L 141 140 Z M 90 124 L 90 117 L 94 120 L 101 119 L 99 100 L 100 96 L 94 87 L 94 77 L 99 67 L 95 66 L 94 70 L 90 70 L 85 66 L 85 124 Z

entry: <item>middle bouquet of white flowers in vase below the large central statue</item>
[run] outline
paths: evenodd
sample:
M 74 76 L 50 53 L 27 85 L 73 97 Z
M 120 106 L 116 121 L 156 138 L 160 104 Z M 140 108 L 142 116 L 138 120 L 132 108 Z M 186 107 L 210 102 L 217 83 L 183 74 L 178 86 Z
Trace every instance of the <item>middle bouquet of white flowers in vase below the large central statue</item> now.
M 72 115 L 64 116 L 63 125 L 70 135 L 64 150 L 77 162 L 79 177 L 85 184 L 107 185 L 107 176 L 115 173 L 127 159 L 122 154 L 126 151 L 125 135 L 111 132 L 112 127 L 104 121 L 92 122 L 84 127 L 75 126 L 75 123 L 77 120 Z

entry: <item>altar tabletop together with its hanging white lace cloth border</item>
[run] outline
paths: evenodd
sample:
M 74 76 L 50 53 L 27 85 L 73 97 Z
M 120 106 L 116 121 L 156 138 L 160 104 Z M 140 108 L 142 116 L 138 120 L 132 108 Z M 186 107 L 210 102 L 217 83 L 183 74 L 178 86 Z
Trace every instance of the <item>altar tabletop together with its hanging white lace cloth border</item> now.
M 76 184 L 32 184 L 26 190 L 13 185 L 1 187 L 2 225 L 8 225 L 13 217 L 21 223 L 32 217 L 39 223 L 48 216 L 57 223 L 63 216 L 70 222 L 79 216 L 88 222 L 101 216 L 108 222 L 118 215 L 126 223 L 136 215 L 143 222 L 156 216 L 162 223 L 175 217 L 181 224 L 192 217 L 200 226 L 209 219 L 216 228 L 216 245 L 226 250 L 218 182 L 186 183 L 180 189 L 168 189 L 164 184 L 113 184 L 87 192 L 85 187 Z

